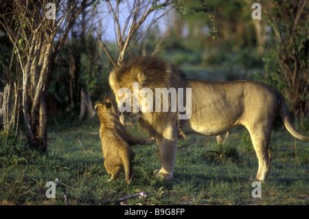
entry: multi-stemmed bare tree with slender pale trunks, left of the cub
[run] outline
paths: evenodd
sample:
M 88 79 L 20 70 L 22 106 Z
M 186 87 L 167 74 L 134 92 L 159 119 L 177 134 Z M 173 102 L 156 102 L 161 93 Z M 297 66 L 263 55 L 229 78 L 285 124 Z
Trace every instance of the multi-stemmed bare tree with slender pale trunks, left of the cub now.
M 47 0 L 3 0 L 6 7 L 0 8 L 0 23 L 8 33 L 10 41 L 14 44 L 14 51 L 19 57 L 23 73 L 22 103 L 26 137 L 28 143 L 35 148 L 47 149 L 47 93 L 56 55 L 78 15 L 94 2 L 95 0 L 88 3 L 87 0 L 71 1 L 65 14 L 56 22 L 55 19 L 48 19 L 46 16 L 46 5 L 49 3 Z M 54 0 L 52 3 L 55 10 L 59 5 L 65 5 L 65 1 L 61 0 Z M 15 19 L 12 19 L 12 16 Z M 60 34 L 58 42 L 54 43 L 60 23 L 64 20 L 65 31 Z M 30 91 L 30 96 L 33 97 L 31 101 L 27 91 Z

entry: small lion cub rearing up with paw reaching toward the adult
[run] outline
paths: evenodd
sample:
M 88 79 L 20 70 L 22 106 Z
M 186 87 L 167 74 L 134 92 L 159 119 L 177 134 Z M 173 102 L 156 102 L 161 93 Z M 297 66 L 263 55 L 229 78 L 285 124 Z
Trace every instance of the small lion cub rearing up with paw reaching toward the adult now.
M 155 139 L 133 136 L 128 133 L 126 127 L 117 119 L 116 107 L 110 100 L 105 104 L 96 104 L 95 110 L 100 117 L 100 138 L 104 157 L 104 167 L 111 174 L 108 181 L 115 180 L 124 167 L 126 183 L 133 180 L 134 152 L 130 146 L 137 144 L 153 144 Z

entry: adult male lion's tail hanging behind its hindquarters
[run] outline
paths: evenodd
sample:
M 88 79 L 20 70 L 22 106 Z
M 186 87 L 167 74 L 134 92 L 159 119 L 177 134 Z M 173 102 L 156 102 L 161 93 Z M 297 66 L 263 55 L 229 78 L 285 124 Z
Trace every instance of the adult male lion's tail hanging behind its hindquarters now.
M 284 101 L 284 97 L 282 97 L 281 93 L 279 93 L 279 107 L 280 107 L 280 115 L 282 117 L 282 121 L 284 122 L 284 126 L 290 134 L 292 134 L 297 139 L 301 139 L 303 141 L 309 141 L 309 137 L 305 135 L 301 135 L 297 130 L 294 128 L 292 122 L 290 122 L 290 117 L 288 117 L 288 108 L 286 107 L 286 102 Z

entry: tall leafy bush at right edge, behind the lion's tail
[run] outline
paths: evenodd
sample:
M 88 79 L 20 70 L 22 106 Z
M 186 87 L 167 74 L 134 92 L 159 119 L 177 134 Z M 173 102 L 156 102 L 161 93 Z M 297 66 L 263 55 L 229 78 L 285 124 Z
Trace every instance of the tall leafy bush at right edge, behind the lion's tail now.
M 262 82 L 277 88 L 297 117 L 308 116 L 308 3 L 268 1 L 266 19 L 271 31 L 264 48 Z

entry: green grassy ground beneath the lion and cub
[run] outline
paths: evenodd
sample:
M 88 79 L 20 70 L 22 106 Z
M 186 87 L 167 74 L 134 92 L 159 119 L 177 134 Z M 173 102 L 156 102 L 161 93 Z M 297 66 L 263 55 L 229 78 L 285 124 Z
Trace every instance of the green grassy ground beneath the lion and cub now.
M 146 136 L 135 125 L 135 135 Z M 104 169 L 99 122 L 49 126 L 48 151 L 38 152 L 15 137 L 0 139 L 0 204 L 2 205 L 106 205 L 137 192 L 147 198 L 131 198 L 126 205 L 308 205 L 308 142 L 298 141 L 279 128 L 273 131 L 273 156 L 262 198 L 252 198 L 249 176 L 258 161 L 243 128 L 230 132 L 229 142 L 218 146 L 216 138 L 187 135 L 179 141 L 174 178 L 159 181 L 152 171 L 161 168 L 156 145 L 135 146 L 134 180 L 124 174 L 108 182 Z M 214 152 L 216 151 L 216 152 Z M 60 179 L 56 198 L 47 198 L 48 181 Z M 119 205 L 119 203 L 111 203 Z

